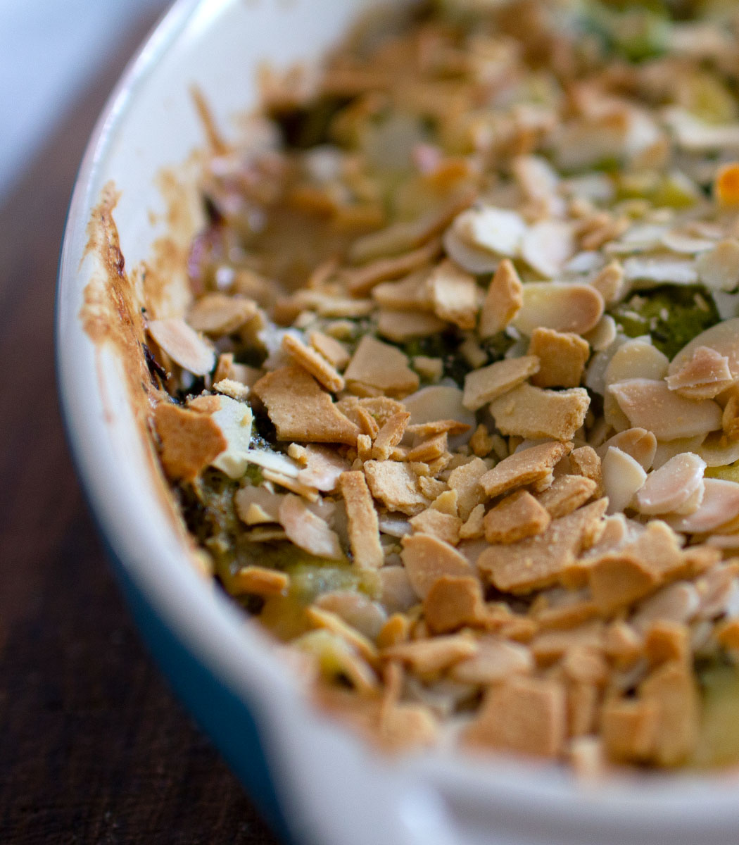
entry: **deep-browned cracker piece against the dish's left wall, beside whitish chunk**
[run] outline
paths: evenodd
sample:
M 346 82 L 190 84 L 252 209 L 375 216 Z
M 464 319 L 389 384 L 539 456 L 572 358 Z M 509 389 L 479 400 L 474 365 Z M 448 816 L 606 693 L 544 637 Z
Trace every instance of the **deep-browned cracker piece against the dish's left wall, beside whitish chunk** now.
M 154 426 L 161 441 L 161 462 L 171 478 L 193 481 L 228 445 L 209 414 L 186 411 L 170 402 L 155 407 Z

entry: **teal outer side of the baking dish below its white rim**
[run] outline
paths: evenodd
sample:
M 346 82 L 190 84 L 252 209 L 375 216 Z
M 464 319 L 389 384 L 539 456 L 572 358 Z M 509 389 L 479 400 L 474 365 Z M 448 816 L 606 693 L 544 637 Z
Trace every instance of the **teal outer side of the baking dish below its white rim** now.
M 139 633 L 171 688 L 214 741 L 274 833 L 285 845 L 297 845 L 282 813 L 259 731 L 247 705 L 167 628 L 107 542 L 106 551 Z

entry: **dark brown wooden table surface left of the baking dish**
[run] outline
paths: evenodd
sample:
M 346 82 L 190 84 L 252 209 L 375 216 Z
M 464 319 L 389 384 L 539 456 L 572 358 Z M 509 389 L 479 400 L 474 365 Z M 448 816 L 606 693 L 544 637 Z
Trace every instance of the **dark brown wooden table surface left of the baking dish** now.
M 0 842 L 276 845 L 144 652 L 57 408 L 57 257 L 111 56 L 0 207 Z

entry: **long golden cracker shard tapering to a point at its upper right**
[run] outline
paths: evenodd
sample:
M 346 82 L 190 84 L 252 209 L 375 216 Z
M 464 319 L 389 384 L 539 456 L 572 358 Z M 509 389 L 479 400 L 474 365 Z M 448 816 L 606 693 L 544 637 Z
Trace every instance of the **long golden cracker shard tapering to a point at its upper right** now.
M 598 499 L 552 521 L 542 534 L 510 545 L 488 546 L 477 566 L 492 586 L 527 593 L 552 586 L 567 574 L 579 553 L 598 539 L 607 499 Z

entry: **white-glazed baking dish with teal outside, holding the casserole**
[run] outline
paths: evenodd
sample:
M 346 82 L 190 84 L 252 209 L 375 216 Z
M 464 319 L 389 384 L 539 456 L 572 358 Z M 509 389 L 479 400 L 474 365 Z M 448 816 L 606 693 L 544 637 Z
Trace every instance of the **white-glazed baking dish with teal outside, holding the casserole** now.
M 385 760 L 319 717 L 264 635 L 188 559 L 161 497 L 116 349 L 79 313 L 100 272 L 86 227 L 110 180 L 127 267 L 163 224 L 162 166 L 204 144 L 190 85 L 227 133 L 255 104 L 255 71 L 322 52 L 371 0 L 180 0 L 124 74 L 74 188 L 57 294 L 57 362 L 69 439 L 139 627 L 179 695 L 285 839 L 326 845 L 728 845 L 732 777 L 675 775 L 583 788 L 551 766 L 451 752 Z

